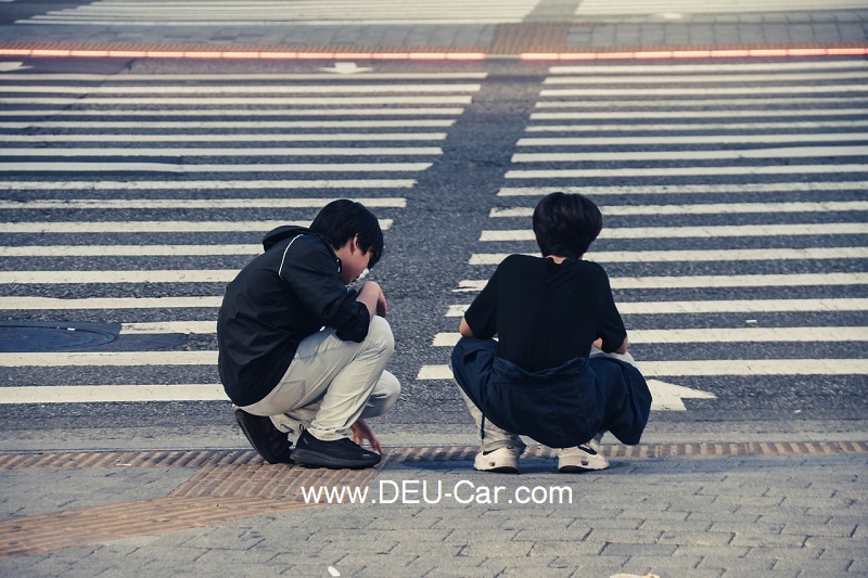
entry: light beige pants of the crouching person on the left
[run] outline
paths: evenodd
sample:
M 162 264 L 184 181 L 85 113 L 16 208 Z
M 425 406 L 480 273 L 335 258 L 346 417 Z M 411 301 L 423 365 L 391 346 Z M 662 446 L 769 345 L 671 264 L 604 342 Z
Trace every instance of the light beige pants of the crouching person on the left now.
M 265 399 L 241 409 L 270 416 L 282 432 L 309 429 L 323 441 L 347 437 L 359 418 L 383 415 L 397 401 L 400 384 L 385 371 L 394 349 L 392 327 L 381 317 L 371 320 L 361 343 L 322 330 L 302 341 L 286 374 Z

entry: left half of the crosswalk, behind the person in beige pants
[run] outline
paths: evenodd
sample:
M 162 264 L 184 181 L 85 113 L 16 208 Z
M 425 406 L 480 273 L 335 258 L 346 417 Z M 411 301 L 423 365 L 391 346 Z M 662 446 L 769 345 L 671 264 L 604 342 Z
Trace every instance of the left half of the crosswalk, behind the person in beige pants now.
M 485 76 L 0 76 L 0 331 L 117 325 L 107 349 L 5 341 L 0 402 L 225 400 L 216 312 L 263 234 L 339 197 L 391 229 Z

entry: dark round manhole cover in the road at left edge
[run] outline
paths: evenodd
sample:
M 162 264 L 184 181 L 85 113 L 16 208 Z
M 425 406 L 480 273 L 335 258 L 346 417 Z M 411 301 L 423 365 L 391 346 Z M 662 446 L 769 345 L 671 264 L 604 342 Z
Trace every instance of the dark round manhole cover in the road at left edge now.
M 0 351 L 59 351 L 95 347 L 114 341 L 114 333 L 63 323 L 0 323 Z

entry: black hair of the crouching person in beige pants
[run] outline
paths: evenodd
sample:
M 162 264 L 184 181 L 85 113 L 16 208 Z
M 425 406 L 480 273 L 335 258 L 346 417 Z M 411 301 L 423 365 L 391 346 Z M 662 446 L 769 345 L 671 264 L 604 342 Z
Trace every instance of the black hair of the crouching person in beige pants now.
M 324 239 L 334 249 L 359 235 L 358 246 L 371 252 L 368 269 L 373 269 L 383 255 L 383 231 L 380 221 L 361 203 L 339 198 L 319 211 L 310 223 L 310 230 Z

